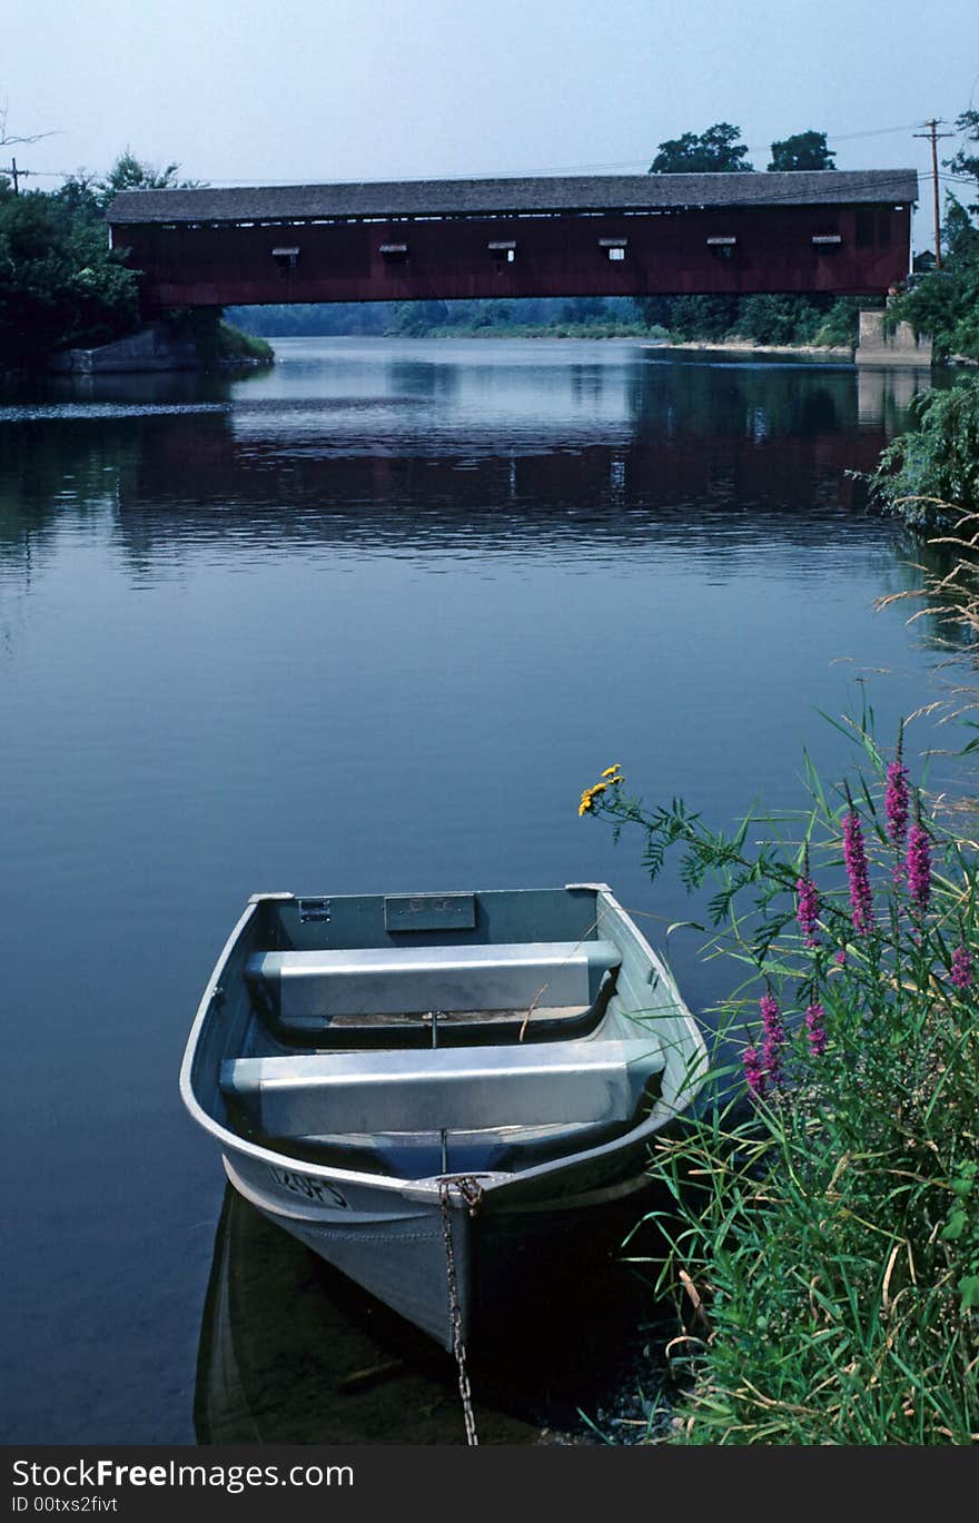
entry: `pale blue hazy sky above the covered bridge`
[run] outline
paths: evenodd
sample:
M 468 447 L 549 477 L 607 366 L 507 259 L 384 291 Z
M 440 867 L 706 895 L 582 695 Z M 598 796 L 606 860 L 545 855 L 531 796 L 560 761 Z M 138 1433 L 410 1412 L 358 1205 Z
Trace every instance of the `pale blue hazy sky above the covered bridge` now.
M 30 189 L 125 148 L 210 184 L 638 174 L 719 120 L 757 169 L 816 128 L 839 169 L 924 175 L 921 123 L 979 108 L 979 5 L 15 0 L 5 105 L 8 136 L 52 134 L 0 148 Z

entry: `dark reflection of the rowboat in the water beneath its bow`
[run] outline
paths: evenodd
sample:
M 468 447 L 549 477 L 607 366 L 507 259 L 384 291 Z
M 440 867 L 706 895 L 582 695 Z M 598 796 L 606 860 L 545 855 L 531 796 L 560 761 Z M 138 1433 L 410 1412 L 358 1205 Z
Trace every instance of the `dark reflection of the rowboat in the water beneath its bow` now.
M 638 1214 L 635 1197 L 632 1221 Z M 629 1224 L 624 1224 L 629 1231 Z M 630 1249 L 632 1252 L 632 1249 Z M 469 1377 L 481 1444 L 618 1442 L 644 1432 L 656 1375 L 647 1285 L 612 1255 L 534 1266 Z M 641 1387 L 641 1398 L 636 1392 Z M 644 1400 L 643 1400 L 644 1398 Z M 464 1444 L 452 1357 L 230 1185 L 215 1238 L 196 1366 L 198 1444 Z

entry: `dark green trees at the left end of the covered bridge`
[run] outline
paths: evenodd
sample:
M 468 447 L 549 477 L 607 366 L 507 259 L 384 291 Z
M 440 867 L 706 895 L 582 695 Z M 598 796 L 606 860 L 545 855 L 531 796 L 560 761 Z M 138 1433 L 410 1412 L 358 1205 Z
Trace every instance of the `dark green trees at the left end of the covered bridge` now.
M 0 364 L 38 366 L 137 321 L 136 274 L 87 204 L 76 215 L 69 195 L 0 192 Z

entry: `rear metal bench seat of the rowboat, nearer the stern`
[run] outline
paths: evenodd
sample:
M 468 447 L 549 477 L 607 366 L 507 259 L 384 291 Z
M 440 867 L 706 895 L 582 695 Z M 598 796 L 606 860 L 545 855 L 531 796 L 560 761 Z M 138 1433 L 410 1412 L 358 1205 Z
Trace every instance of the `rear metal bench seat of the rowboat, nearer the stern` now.
M 620 961 L 612 941 L 330 947 L 256 952 L 245 978 L 273 1020 L 301 1036 L 352 1016 L 585 1011 Z

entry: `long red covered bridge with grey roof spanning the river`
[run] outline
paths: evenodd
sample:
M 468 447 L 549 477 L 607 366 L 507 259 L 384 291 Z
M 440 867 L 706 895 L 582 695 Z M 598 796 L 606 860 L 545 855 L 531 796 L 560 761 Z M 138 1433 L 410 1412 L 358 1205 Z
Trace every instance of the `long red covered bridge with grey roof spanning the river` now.
M 146 312 L 522 295 L 880 295 L 914 169 L 126 190 L 108 221 Z

